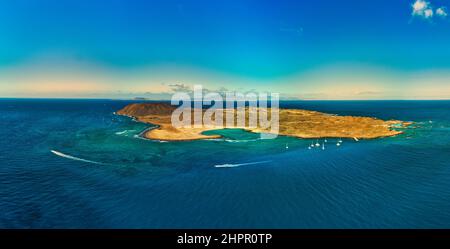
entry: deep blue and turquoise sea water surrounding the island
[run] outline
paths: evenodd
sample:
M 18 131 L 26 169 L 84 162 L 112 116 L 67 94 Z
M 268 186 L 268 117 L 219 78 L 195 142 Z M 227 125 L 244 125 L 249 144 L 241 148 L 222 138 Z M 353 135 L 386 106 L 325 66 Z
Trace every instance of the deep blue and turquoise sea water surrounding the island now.
M 0 100 L 0 227 L 450 228 L 450 101 L 282 102 L 416 122 L 325 150 L 241 130 L 145 140 L 114 115 L 128 103 Z

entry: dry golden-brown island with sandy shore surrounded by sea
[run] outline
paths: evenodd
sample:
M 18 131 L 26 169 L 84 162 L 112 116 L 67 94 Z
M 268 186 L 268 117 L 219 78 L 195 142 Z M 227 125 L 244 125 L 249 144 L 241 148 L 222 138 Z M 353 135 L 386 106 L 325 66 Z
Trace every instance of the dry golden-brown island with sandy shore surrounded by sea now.
M 220 138 L 220 135 L 205 135 L 205 131 L 218 130 L 217 127 L 183 127 L 175 128 L 171 123 L 172 112 L 176 106 L 169 103 L 133 103 L 117 111 L 118 115 L 132 117 L 137 121 L 156 125 L 148 129 L 143 136 L 148 139 L 162 141 L 186 141 L 200 139 Z M 224 112 L 233 112 L 235 109 L 223 109 Z M 248 119 L 249 108 L 245 108 Z M 270 109 L 267 110 L 270 113 Z M 224 121 L 225 121 L 224 114 Z M 270 115 L 269 115 L 270 117 Z M 403 133 L 401 128 L 409 126 L 410 122 L 400 120 L 381 120 L 374 117 L 339 116 L 301 109 L 279 109 L 278 135 L 297 138 L 352 138 L 374 139 L 380 137 L 396 136 Z M 250 132 L 270 132 L 261 127 L 235 127 Z M 400 130 L 396 130 L 400 128 Z

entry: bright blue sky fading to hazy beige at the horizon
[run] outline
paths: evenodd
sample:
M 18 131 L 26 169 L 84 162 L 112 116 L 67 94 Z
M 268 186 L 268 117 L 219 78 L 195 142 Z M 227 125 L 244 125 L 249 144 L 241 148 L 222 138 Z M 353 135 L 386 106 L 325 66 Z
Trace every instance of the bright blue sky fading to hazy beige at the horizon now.
M 449 99 L 450 0 L 2 0 L 0 97 Z

